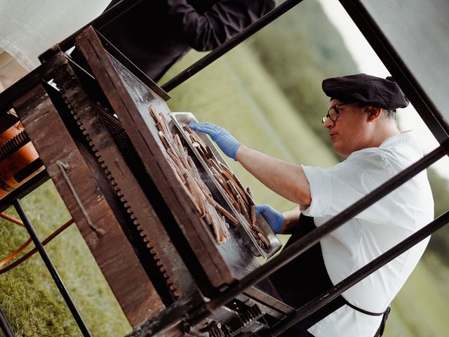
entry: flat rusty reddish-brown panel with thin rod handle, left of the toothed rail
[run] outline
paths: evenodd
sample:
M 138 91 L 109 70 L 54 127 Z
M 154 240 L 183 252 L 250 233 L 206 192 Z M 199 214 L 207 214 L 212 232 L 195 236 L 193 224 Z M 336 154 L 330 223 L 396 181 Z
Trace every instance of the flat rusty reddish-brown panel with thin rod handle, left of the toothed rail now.
M 157 315 L 163 303 L 46 91 L 34 86 L 13 106 L 130 324 Z

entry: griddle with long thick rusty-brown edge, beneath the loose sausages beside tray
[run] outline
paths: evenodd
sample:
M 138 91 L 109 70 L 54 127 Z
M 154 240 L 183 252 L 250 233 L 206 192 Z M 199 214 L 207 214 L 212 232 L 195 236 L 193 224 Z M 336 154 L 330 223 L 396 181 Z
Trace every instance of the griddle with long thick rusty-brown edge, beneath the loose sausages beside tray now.
M 105 51 L 92 28 L 79 35 L 76 46 L 91 66 L 145 169 L 156 183 L 213 286 L 234 282 L 257 267 L 247 246 L 238 240 L 228 240 L 223 245 L 215 242 L 212 232 L 199 218 L 173 174 L 148 112 L 149 106 L 153 105 L 156 110 L 168 114 L 166 103 Z

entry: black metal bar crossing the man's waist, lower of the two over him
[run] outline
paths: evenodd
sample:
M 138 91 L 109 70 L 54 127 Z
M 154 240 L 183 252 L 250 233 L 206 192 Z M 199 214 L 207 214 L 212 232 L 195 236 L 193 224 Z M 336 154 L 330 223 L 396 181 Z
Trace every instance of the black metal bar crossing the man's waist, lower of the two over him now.
M 396 246 L 389 249 L 381 256 L 375 258 L 367 265 L 361 267 L 361 269 L 349 275 L 349 277 L 347 277 L 346 279 L 343 279 L 342 282 L 336 284 L 325 293 L 317 296 L 316 298 L 314 298 L 314 300 L 311 300 L 309 303 L 303 305 L 301 308 L 293 312 L 293 314 L 289 315 L 286 319 L 283 319 L 281 322 L 274 325 L 272 329 L 267 331 L 267 336 L 278 336 L 279 333 L 283 333 L 290 327 L 302 321 L 302 319 L 311 315 L 316 310 L 319 310 L 319 308 L 329 303 L 344 291 L 347 291 L 347 289 L 351 288 L 351 286 L 354 286 L 354 284 L 356 284 L 357 282 L 360 282 L 362 279 L 375 272 L 380 267 L 386 265 L 405 251 L 408 251 L 408 249 L 415 246 L 415 244 L 417 244 L 418 242 L 421 242 L 436 230 L 439 230 L 448 222 L 449 211 L 446 211 L 442 216 L 439 216 L 434 221 L 429 223 L 429 225 L 422 227 L 422 229 L 415 232 L 415 234 L 410 235 L 410 237 L 408 237 L 407 239 L 403 240 L 399 244 L 396 244 Z

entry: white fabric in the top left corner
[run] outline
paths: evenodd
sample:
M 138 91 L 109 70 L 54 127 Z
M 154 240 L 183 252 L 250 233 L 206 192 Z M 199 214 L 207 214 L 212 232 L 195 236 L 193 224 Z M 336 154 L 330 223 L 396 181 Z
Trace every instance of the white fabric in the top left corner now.
M 38 56 L 95 19 L 111 0 L 0 0 L 0 50 L 31 71 Z

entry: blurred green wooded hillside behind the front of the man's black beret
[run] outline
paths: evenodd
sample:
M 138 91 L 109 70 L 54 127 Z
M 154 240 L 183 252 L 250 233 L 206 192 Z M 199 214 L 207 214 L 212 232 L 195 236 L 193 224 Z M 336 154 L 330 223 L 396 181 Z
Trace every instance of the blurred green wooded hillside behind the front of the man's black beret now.
M 295 6 L 257 33 L 251 45 L 297 112 L 330 145 L 320 121 L 328 110 L 321 81 L 358 69 L 321 5 L 309 0 Z

